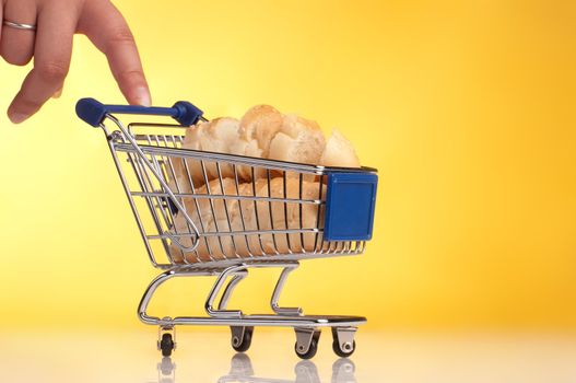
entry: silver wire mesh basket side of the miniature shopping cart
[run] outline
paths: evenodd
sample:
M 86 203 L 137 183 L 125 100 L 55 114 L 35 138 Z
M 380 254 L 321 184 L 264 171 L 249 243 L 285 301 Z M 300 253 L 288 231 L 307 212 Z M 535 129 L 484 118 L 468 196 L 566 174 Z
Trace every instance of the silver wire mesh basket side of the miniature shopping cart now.
M 321 172 L 169 150 L 181 148 L 181 136 L 136 138 L 199 231 L 196 236 L 155 175 L 116 135 L 124 171 L 133 175 L 126 181 L 127 188 L 139 213 L 148 214 L 143 231 L 149 242 L 161 244 L 167 259 L 164 265 L 299 259 L 364 251 L 363 242 L 324 241 L 326 175 Z M 195 251 L 183 251 L 197 242 Z

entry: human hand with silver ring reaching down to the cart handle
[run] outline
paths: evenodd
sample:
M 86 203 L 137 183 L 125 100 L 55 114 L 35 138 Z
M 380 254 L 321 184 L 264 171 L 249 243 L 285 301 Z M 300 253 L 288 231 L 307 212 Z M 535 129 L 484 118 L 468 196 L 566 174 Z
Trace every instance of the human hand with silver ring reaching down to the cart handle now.
M 134 38 L 109 0 L 0 0 L 0 20 L 36 25 L 17 30 L 0 23 L 0 56 L 34 68 L 24 79 L 8 117 L 20 124 L 61 93 L 70 68 L 72 38 L 84 34 L 104 53 L 126 100 L 150 106 L 149 86 Z

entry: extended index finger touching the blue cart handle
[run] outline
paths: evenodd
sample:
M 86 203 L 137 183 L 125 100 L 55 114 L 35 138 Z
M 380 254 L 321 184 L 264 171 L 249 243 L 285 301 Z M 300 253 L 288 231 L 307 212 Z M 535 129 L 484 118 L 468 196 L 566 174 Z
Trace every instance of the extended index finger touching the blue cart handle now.
M 130 104 L 150 106 L 150 90 L 134 37 L 120 12 L 107 0 L 86 1 L 79 32 L 106 55 L 126 100 Z

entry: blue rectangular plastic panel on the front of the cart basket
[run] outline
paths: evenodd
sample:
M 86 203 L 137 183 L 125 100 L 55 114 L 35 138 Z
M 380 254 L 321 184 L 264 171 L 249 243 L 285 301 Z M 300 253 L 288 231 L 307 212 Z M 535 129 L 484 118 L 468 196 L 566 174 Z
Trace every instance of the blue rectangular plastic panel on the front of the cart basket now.
M 368 241 L 374 227 L 378 176 L 374 173 L 329 173 L 324 239 Z

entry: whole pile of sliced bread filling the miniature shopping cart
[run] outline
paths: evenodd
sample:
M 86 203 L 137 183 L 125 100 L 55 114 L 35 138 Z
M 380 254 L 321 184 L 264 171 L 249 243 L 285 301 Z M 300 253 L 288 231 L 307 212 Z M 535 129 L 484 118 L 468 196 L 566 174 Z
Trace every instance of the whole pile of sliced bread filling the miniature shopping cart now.
M 269 105 L 250 108 L 240 120 L 224 117 L 197 124 L 186 130 L 183 148 L 360 167 L 354 148 L 338 130 L 326 140 L 317 123 L 283 115 Z M 190 247 L 196 237 L 184 213 L 176 213 L 171 229 L 175 240 L 169 245 L 174 263 L 305 253 L 322 246 L 321 237 L 313 231 L 322 225 L 318 219 L 324 219 L 324 206 L 318 201 L 324 200 L 326 187 L 320 187 L 314 174 L 301 177 L 296 172 L 268 171 L 242 161 L 218 162 L 210 155 L 204 160 L 171 158 L 169 165 L 169 186 L 175 193 L 189 195 L 183 205 L 200 233 L 198 247 L 183 252 L 175 241 Z M 272 234 L 271 230 L 295 232 Z

